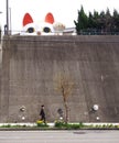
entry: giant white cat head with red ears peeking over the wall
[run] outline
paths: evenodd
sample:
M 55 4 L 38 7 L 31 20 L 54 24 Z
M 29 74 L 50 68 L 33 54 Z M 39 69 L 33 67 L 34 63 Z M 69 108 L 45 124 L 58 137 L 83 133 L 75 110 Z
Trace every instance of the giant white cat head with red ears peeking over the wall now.
M 65 29 L 62 23 L 55 23 L 54 16 L 51 12 L 45 15 L 44 22 L 40 23 L 39 25 L 35 25 L 30 13 L 25 13 L 22 25 L 23 30 L 21 35 L 54 35 L 56 30 L 63 32 Z

